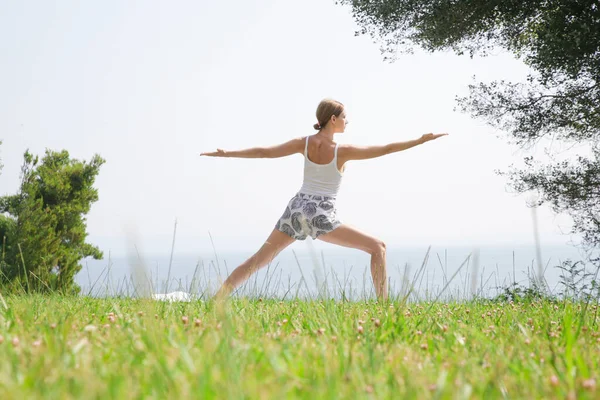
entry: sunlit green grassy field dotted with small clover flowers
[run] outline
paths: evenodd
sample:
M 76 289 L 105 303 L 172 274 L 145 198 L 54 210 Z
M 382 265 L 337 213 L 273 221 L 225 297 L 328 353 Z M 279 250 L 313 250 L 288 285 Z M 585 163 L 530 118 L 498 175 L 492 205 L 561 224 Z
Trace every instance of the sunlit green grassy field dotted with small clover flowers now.
M 600 398 L 597 305 L 0 299 L 0 398 Z

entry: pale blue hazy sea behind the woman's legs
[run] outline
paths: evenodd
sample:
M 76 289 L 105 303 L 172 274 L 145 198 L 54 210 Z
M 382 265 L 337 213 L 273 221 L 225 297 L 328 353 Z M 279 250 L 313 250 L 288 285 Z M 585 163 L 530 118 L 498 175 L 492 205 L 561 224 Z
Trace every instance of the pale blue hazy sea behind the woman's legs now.
M 221 282 L 252 255 L 247 251 L 108 255 L 85 259 L 75 280 L 83 295 L 144 297 L 175 291 L 209 299 Z M 593 255 L 592 255 L 593 256 Z M 534 285 L 553 295 L 567 293 L 586 272 L 597 278 L 594 264 L 570 245 L 518 245 L 387 249 L 390 297 L 406 301 L 461 301 L 494 298 L 518 285 Z M 570 268 L 581 271 L 573 275 Z M 581 281 L 583 285 L 587 281 Z M 375 298 L 370 256 L 333 247 L 286 249 L 238 288 L 234 296 L 276 299 L 353 300 Z

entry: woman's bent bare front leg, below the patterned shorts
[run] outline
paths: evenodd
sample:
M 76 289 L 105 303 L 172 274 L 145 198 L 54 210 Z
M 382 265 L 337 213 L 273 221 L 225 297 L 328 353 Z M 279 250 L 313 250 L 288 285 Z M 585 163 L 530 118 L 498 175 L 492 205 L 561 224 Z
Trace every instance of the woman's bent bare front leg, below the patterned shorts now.
M 375 285 L 375 293 L 382 300 L 387 300 L 387 271 L 385 266 L 385 243 L 366 233 L 342 224 L 333 231 L 318 237 L 324 242 L 351 247 L 366 251 L 371 255 L 371 276 Z

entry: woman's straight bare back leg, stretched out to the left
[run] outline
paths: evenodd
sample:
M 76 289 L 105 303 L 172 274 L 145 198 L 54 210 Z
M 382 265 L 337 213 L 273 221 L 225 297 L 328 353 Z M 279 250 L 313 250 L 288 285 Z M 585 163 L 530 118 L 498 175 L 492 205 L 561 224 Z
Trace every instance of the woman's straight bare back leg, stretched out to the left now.
M 227 280 L 223 282 L 223 285 L 215 295 L 215 298 L 222 299 L 229 296 L 229 294 L 231 294 L 238 286 L 246 282 L 252 274 L 273 261 L 281 250 L 288 247 L 295 240 L 296 239 L 291 238 L 289 235 L 277 229 L 273 229 L 273 232 L 271 232 L 271 235 L 269 235 L 265 244 L 262 245 L 256 254 L 233 270 Z

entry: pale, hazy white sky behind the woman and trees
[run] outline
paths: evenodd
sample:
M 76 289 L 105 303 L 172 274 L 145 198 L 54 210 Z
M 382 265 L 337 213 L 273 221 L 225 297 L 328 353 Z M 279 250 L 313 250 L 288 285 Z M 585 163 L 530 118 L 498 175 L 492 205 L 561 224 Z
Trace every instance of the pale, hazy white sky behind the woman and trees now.
M 18 190 L 23 153 L 101 155 L 89 241 L 123 253 L 252 251 L 302 184 L 303 158 L 199 157 L 314 133 L 325 97 L 346 106 L 340 143 L 386 144 L 448 132 L 422 146 L 349 162 L 340 219 L 413 245 L 534 240 L 526 195 L 495 170 L 524 151 L 454 111 L 477 81 L 523 81 L 498 51 L 383 61 L 379 44 L 334 1 L 12 1 L 0 3 L 0 196 Z M 537 211 L 543 244 L 576 240 L 570 220 Z M 301 243 L 293 246 L 303 246 Z

